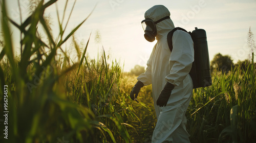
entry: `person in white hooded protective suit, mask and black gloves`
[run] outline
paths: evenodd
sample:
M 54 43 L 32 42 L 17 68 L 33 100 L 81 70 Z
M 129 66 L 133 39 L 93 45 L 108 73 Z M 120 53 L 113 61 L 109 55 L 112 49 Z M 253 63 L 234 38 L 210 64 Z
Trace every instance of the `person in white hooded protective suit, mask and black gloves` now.
M 155 44 L 145 73 L 137 79 L 130 97 L 137 100 L 139 90 L 152 84 L 157 124 L 152 142 L 190 142 L 186 131 L 185 112 L 193 94 L 193 82 L 189 76 L 194 61 L 194 43 L 190 35 L 177 30 L 173 34 L 173 51 L 167 43 L 167 34 L 174 29 L 170 12 L 162 5 L 145 12 L 144 37 Z

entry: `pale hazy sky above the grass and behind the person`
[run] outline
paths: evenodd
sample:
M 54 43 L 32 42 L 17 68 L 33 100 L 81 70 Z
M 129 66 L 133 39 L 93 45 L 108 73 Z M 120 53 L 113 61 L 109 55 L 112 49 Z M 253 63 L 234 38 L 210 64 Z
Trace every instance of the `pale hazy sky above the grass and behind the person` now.
M 24 20 L 28 15 L 28 0 L 19 1 Z M 65 2 L 66 0 L 57 2 L 61 17 Z M 66 17 L 68 17 L 74 2 L 75 0 L 69 1 Z M 19 22 L 17 3 L 17 0 L 8 1 L 8 8 L 9 16 Z M 145 11 L 154 5 L 164 5 L 169 9 L 170 18 L 175 27 L 182 27 L 187 31 L 193 31 L 195 27 L 206 30 L 210 60 L 218 53 L 231 56 L 234 63 L 247 59 L 249 27 L 253 34 L 256 34 L 256 0 L 77 0 L 66 34 L 79 25 L 95 5 L 96 8 L 92 15 L 76 32 L 77 39 L 86 43 L 92 32 L 87 54 L 91 58 L 97 57 L 98 44 L 94 38 L 95 32 L 98 30 L 101 36 L 99 50 L 103 46 L 112 60 L 120 60 L 121 65 L 124 63 L 124 71 L 129 71 L 136 64 L 146 67 L 146 61 L 150 57 L 156 41 L 151 43 L 144 39 L 141 21 L 144 19 Z M 52 29 L 56 36 L 56 33 L 59 32 L 56 5 L 49 7 L 45 14 L 51 14 Z M 16 41 L 14 45 L 18 47 L 19 33 L 15 29 L 13 29 L 13 33 L 12 38 Z M 255 35 L 254 40 L 256 41 Z

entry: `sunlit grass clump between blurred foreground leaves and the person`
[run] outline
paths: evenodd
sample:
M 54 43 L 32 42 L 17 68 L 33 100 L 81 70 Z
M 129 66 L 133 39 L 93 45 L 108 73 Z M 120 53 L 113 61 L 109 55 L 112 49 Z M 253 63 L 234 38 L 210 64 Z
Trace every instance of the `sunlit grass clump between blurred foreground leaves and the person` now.
M 84 55 L 83 55 L 84 56 Z M 103 51 L 100 60 L 85 59 L 78 70 L 66 77 L 68 98 L 74 103 L 88 107 L 96 115 L 97 120 L 108 127 L 109 134 L 104 135 L 105 140 L 131 140 L 122 117 L 134 114 L 123 103 L 120 93 L 121 66 L 117 61 L 107 63 Z M 82 62 L 82 61 L 80 61 Z M 73 75 L 73 76 L 72 76 Z M 95 132 L 95 137 L 102 137 L 100 132 Z M 118 141 L 118 142 L 119 142 Z

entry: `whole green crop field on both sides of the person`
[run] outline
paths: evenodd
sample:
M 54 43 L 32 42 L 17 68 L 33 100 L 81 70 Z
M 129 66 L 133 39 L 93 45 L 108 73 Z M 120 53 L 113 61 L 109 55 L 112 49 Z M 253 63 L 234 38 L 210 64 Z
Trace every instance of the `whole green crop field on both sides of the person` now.
M 90 39 L 81 46 L 74 33 L 87 19 L 73 31 L 58 19 L 54 39 L 43 11 L 55 2 L 39 3 L 19 25 L 7 18 L 2 1 L 0 142 L 151 142 L 157 121 L 151 85 L 141 88 L 139 103 L 132 101 L 136 76 L 104 49 L 98 59 L 86 56 Z M 20 55 L 13 52 L 10 25 L 21 33 Z M 63 50 L 67 40 L 76 61 Z M 212 70 L 212 85 L 194 89 L 186 112 L 191 142 L 256 142 L 255 75 L 250 61 L 226 73 Z

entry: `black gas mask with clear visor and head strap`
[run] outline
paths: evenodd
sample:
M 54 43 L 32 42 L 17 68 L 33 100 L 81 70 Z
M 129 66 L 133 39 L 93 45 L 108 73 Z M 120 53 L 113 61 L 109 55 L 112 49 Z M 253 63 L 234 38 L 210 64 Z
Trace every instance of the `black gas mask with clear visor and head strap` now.
M 155 22 L 150 18 L 146 18 L 145 20 L 142 20 L 141 25 L 145 32 L 144 34 L 145 39 L 150 42 L 155 41 L 157 36 L 156 24 L 168 18 L 170 18 L 170 16 L 163 17 Z

